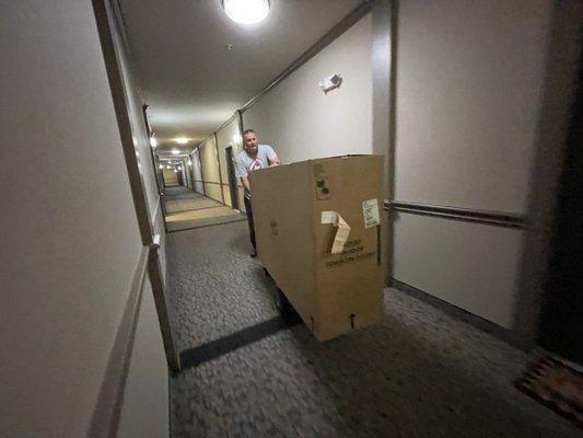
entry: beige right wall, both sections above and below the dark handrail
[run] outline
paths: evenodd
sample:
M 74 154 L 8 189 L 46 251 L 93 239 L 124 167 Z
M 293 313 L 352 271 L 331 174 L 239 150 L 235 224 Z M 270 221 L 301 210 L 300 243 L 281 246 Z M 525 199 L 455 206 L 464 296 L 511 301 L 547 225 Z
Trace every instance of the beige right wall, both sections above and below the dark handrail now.
M 396 199 L 524 214 L 550 1 L 403 1 Z M 512 325 L 522 231 L 408 214 L 394 276 Z

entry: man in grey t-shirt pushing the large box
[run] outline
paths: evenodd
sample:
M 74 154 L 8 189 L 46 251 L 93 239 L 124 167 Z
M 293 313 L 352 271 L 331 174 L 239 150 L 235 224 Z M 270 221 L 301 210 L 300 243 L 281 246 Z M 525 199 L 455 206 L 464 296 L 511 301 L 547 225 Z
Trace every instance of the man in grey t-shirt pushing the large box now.
M 255 244 L 255 228 L 253 224 L 253 210 L 250 205 L 250 186 L 249 172 L 257 169 L 279 165 L 279 158 L 270 146 L 259 145 L 257 132 L 253 129 L 246 129 L 243 132 L 243 150 L 235 157 L 235 175 L 241 178 L 245 187 L 245 210 L 247 210 L 247 221 L 249 223 L 249 238 L 253 246 L 252 257 L 257 256 L 257 246 Z

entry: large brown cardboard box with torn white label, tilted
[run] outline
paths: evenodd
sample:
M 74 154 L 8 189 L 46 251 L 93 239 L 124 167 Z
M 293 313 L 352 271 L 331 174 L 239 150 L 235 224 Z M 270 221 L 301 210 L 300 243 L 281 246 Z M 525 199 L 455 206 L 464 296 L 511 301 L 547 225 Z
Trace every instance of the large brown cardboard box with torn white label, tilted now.
M 383 158 L 308 160 L 249 173 L 257 252 L 319 341 L 383 313 Z

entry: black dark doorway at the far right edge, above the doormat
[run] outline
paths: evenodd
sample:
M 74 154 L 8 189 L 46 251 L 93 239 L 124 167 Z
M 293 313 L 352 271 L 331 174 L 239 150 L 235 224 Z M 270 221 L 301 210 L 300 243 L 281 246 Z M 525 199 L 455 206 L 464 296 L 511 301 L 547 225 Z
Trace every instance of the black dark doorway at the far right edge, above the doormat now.
M 571 107 L 538 341 L 583 364 L 583 62 Z

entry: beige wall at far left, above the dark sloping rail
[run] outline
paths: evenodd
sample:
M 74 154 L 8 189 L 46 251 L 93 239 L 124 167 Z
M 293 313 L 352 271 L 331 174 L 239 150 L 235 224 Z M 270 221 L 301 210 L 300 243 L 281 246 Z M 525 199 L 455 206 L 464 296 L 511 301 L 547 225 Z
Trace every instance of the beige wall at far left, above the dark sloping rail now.
M 142 244 L 91 2 L 1 9 L 0 436 L 82 437 Z

